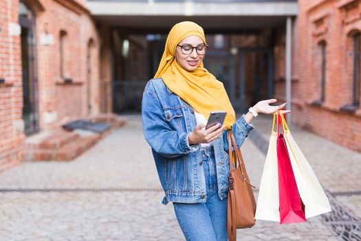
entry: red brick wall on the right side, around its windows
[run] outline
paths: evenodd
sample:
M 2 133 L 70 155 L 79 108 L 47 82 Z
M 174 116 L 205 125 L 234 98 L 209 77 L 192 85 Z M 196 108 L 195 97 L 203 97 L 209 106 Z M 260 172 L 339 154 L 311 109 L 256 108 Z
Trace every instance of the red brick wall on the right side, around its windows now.
M 348 1 L 350 2 L 350 1 Z M 295 22 L 292 83 L 293 121 L 324 136 L 361 151 L 361 110 L 340 111 L 352 98 L 352 41 L 349 33 L 361 31 L 361 3 L 351 1 L 299 1 Z M 320 41 L 326 43 L 325 101 L 320 98 Z

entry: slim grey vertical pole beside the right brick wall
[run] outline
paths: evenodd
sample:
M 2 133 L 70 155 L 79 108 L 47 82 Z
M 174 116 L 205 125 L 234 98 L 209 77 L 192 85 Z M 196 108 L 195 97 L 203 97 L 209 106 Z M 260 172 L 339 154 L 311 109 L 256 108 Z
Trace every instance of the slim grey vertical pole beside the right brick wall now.
M 292 111 L 292 18 L 286 22 L 286 109 Z M 292 124 L 292 114 L 288 115 L 287 123 Z

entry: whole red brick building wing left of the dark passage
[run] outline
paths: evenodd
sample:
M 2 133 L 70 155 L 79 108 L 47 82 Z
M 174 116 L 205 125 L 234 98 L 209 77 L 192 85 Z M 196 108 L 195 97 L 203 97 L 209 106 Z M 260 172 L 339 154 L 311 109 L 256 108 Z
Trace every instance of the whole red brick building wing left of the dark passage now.
M 100 112 L 100 39 L 83 1 L 0 1 L 0 169 L 26 135 Z

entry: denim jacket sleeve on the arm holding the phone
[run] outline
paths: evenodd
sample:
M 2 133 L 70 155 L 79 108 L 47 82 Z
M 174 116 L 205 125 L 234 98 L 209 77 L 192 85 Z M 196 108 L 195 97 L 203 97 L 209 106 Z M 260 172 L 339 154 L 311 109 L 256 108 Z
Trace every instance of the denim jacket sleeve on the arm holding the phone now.
M 146 85 L 143 93 L 142 123 L 146 141 L 154 151 L 166 158 L 175 158 L 199 149 L 199 145 L 189 145 L 190 132 L 171 129 L 151 81 Z

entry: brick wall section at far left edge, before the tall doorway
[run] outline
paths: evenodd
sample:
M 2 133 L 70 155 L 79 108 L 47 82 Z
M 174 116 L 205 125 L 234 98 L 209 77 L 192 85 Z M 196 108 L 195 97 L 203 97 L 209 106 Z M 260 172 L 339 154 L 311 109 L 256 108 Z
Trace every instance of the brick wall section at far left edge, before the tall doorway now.
M 21 48 L 13 32 L 18 3 L 0 1 L 0 170 L 23 159 Z M 11 28 L 11 29 L 10 29 Z

